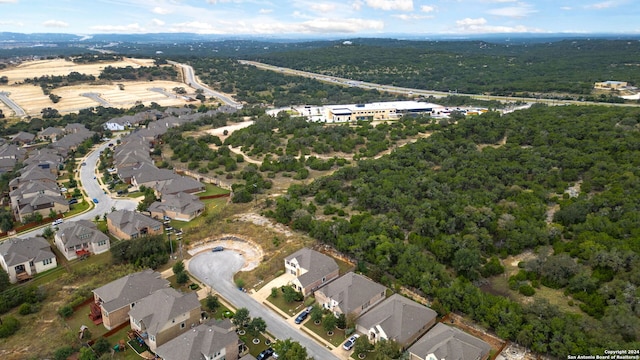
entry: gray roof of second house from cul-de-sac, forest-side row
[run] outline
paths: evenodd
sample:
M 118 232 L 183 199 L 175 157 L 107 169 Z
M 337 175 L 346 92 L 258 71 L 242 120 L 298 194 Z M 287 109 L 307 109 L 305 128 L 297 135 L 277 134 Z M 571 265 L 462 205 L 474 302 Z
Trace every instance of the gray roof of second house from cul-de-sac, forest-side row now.
M 340 309 L 345 314 L 349 314 L 386 289 L 362 275 L 349 272 L 330 282 L 318 292 L 337 301 Z

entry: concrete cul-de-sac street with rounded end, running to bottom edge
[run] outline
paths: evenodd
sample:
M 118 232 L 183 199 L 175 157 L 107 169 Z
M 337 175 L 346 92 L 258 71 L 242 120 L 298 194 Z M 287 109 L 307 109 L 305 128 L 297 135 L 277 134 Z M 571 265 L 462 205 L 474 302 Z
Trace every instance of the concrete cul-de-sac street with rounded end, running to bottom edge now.
M 247 308 L 252 317 L 261 317 L 267 323 L 267 331 L 278 339 L 291 338 L 305 349 L 309 356 L 316 360 L 338 360 L 331 351 L 304 335 L 300 330 L 287 323 L 280 315 L 275 314 L 254 298 L 238 290 L 233 283 L 233 274 L 244 264 L 240 253 L 225 250 L 221 252 L 203 252 L 189 261 L 189 272 L 200 281 L 211 286 L 223 298 L 236 308 Z

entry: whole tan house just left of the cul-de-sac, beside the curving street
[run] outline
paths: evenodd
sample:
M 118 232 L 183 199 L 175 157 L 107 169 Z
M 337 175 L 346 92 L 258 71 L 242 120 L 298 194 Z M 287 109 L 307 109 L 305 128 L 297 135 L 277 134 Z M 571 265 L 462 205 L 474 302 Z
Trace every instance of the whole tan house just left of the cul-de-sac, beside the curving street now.
M 107 215 L 107 229 L 118 239 L 129 240 L 162 234 L 162 223 L 139 212 L 117 210 Z

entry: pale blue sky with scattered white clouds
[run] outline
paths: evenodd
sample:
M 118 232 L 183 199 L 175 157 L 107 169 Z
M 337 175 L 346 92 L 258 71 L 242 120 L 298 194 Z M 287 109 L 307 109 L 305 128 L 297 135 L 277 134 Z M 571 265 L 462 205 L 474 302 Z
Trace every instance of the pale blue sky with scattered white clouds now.
M 639 0 L 0 0 L 0 31 L 278 36 L 640 34 Z

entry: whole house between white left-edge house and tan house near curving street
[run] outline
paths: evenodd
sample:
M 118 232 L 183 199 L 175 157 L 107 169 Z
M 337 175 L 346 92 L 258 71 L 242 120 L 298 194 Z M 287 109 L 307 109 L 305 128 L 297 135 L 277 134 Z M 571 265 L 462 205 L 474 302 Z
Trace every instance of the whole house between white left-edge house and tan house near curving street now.
M 87 254 L 101 254 L 109 250 L 109 237 L 88 220 L 78 220 L 58 225 L 54 243 L 67 258 L 73 260 Z

